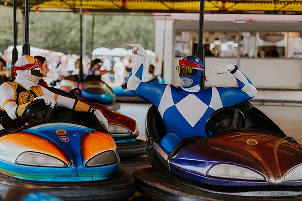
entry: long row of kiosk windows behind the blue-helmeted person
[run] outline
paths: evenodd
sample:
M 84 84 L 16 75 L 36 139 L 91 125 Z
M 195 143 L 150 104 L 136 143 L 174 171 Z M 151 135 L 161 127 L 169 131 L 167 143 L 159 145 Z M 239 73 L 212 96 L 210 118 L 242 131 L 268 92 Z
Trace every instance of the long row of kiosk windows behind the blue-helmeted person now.
M 198 32 L 177 32 L 175 56 L 195 55 L 198 38 Z M 203 45 L 205 57 L 302 58 L 300 32 L 204 32 Z

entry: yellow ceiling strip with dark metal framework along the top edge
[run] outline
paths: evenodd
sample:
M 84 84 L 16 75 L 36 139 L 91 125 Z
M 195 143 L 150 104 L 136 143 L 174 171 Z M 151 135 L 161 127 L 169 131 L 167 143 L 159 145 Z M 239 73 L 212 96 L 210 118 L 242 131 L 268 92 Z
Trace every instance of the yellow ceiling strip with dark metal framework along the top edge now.
M 13 0 L 0 4 L 13 5 Z M 19 8 L 25 2 L 17 0 Z M 204 2 L 205 13 L 302 14 L 302 0 L 226 0 Z M 199 13 L 200 0 L 31 0 L 31 11 Z

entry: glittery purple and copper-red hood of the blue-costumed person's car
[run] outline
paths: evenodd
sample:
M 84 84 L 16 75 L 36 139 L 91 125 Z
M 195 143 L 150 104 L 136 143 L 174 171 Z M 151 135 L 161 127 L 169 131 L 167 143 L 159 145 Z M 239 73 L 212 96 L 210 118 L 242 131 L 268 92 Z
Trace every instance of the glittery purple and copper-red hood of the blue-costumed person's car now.
M 192 143 L 169 161 L 172 168 L 200 176 L 214 164 L 232 164 L 259 172 L 270 183 L 281 183 L 287 172 L 302 164 L 302 148 L 286 138 L 238 132 Z

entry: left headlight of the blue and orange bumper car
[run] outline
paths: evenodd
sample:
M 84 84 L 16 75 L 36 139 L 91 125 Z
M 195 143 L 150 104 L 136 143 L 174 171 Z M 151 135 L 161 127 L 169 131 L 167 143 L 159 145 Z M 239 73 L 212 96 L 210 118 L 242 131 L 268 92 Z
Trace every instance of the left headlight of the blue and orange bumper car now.
M 19 165 L 40 166 L 40 167 L 68 167 L 68 165 L 53 156 L 40 152 L 27 151 L 18 156 L 15 161 Z

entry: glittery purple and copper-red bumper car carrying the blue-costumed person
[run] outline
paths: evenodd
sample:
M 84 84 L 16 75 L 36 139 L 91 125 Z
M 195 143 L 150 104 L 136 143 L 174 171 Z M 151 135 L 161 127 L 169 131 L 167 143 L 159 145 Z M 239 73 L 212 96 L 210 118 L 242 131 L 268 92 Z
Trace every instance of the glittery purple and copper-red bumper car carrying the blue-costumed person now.
M 244 102 L 215 111 L 207 137 L 185 138 L 169 152 L 157 109 L 146 117 L 147 158 L 137 190 L 158 200 L 302 199 L 302 145 Z

